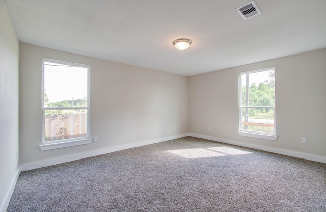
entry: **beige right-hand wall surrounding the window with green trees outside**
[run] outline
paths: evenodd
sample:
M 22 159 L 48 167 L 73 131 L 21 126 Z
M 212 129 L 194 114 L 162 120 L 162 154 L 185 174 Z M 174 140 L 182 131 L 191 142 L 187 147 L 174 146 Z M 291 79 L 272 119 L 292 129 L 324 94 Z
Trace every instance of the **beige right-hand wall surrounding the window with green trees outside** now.
M 269 67 L 275 67 L 279 137 L 239 136 L 238 73 Z M 195 134 L 326 156 L 325 105 L 326 49 L 189 77 L 189 131 Z

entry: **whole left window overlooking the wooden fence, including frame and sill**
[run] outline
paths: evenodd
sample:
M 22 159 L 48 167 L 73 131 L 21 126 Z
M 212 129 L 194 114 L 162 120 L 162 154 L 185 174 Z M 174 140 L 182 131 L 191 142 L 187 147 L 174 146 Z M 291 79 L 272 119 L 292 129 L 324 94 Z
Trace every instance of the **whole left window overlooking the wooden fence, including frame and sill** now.
M 42 150 L 90 139 L 90 66 L 43 59 Z

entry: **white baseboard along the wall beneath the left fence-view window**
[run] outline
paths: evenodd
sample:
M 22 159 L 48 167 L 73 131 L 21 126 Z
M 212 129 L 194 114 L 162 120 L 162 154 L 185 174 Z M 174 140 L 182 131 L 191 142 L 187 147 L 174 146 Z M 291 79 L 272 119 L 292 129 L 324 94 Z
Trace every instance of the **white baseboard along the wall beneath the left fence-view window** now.
M 100 154 L 106 154 L 106 153 L 110 153 L 110 152 L 116 152 L 116 151 L 120 151 L 120 150 L 124 150 L 124 149 L 130 149 L 130 148 L 134 148 L 134 147 L 144 146 L 144 145 L 148 145 L 148 144 L 169 141 L 169 140 L 178 139 L 178 138 L 182 138 L 182 137 L 186 137 L 186 136 L 188 136 L 187 133 L 179 134 L 179 135 L 175 135 L 175 136 L 168 136 L 168 137 L 159 138 L 159 139 L 135 142 L 135 143 L 130 143 L 130 144 L 123 144 L 123 145 L 108 147 L 108 148 L 104 148 L 104 149 L 97 149 L 97 150 L 93 150 L 93 151 L 82 152 L 82 153 L 67 155 L 67 156 L 63 156 L 63 157 L 51 158 L 48 160 L 33 162 L 30 164 L 23 164 L 20 166 L 20 169 L 21 169 L 21 171 L 27 171 L 27 170 L 31 170 L 31 169 L 37 169 L 37 168 L 41 168 L 41 167 L 52 166 L 52 165 L 56 165 L 56 164 L 62 164 L 62 163 L 70 162 L 70 161 L 75 161 L 75 160 L 83 159 L 86 157 L 92 157 L 92 156 L 96 156 L 96 155 L 100 155 Z

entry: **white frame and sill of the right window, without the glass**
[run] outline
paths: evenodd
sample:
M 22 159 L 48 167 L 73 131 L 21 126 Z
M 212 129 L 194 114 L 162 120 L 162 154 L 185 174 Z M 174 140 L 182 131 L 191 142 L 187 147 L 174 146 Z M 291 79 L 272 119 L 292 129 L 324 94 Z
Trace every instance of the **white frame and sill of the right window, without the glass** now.
M 263 71 L 269 71 L 274 70 L 274 79 L 275 79 L 275 67 L 271 68 L 264 68 L 254 71 L 246 71 L 239 73 L 239 128 L 238 128 L 238 135 L 240 136 L 248 136 L 248 137 L 254 137 L 254 138 L 260 138 L 260 139 L 267 139 L 267 140 L 276 140 L 276 110 L 275 105 L 276 102 L 274 102 L 274 106 L 264 107 L 264 106 L 242 106 L 242 85 L 241 85 L 241 76 L 243 74 L 250 74 L 250 73 L 257 73 L 257 72 L 263 72 Z M 274 89 L 275 92 L 275 89 Z M 274 100 L 275 101 L 275 100 Z M 244 130 L 242 129 L 242 109 L 243 108 L 274 108 L 274 133 L 265 133 L 260 131 L 252 131 L 252 130 Z

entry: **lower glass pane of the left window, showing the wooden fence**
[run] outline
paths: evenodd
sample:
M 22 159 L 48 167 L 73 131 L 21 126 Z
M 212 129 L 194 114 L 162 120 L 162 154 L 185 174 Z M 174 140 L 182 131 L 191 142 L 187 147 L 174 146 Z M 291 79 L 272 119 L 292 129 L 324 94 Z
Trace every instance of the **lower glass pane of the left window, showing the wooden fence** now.
M 87 109 L 45 110 L 45 141 L 87 136 Z

